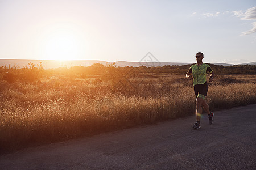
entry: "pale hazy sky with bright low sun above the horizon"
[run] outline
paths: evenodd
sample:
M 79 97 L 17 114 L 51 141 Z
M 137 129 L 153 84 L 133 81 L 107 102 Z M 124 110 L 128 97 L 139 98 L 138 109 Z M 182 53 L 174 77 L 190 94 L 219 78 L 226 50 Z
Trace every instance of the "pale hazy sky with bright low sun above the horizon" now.
M 0 0 L 1 59 L 256 61 L 255 0 Z

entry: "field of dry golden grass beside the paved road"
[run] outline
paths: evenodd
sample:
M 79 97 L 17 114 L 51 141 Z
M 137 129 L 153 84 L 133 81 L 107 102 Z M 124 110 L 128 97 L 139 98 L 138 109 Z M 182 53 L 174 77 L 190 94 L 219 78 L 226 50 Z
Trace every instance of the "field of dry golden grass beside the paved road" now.
M 47 74 L 46 74 L 47 75 Z M 210 110 L 256 103 L 256 75 L 221 75 L 209 83 Z M 192 80 L 141 75 L 104 80 L 48 74 L 38 82 L 0 82 L 0 150 L 195 114 Z

